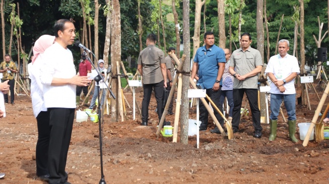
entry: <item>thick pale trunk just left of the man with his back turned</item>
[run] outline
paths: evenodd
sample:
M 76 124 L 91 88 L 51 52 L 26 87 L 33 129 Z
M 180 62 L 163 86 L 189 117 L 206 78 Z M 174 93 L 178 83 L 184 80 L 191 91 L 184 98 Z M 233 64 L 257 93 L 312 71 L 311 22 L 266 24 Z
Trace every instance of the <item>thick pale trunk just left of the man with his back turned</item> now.
M 116 61 L 121 61 L 121 17 L 120 17 L 120 4 L 119 0 L 112 0 L 112 26 L 111 26 L 111 63 L 113 68 L 116 68 Z M 114 71 L 115 69 L 113 69 Z M 113 75 L 117 74 L 116 72 L 113 73 Z M 112 79 L 112 91 L 115 95 L 115 97 L 118 97 L 118 79 L 113 78 Z M 121 91 L 120 91 L 121 93 Z M 115 102 L 114 102 L 115 101 Z M 118 98 L 114 100 L 111 98 L 111 115 L 112 115 L 112 121 L 115 119 L 115 122 L 118 121 L 119 116 L 119 102 Z

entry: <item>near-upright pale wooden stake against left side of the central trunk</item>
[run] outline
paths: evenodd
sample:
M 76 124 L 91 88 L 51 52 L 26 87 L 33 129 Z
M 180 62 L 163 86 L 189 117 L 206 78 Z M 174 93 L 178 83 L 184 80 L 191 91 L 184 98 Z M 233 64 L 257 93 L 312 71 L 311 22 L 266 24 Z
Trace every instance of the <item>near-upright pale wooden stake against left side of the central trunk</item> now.
M 174 85 L 172 85 L 171 90 L 175 90 Z M 181 95 L 182 95 L 182 74 L 179 73 L 179 76 L 178 76 L 178 89 L 177 89 L 177 102 L 176 102 L 175 121 L 174 121 L 174 136 L 172 138 L 172 142 L 177 142 Z

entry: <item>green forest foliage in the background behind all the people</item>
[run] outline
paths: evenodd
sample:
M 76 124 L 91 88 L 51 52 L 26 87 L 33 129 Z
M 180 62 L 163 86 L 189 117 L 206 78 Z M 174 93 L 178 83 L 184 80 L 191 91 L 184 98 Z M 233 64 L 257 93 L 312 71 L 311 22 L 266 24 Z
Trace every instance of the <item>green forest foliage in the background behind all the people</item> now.
M 1 0 L 2 13 L 4 21 L 2 23 L 3 29 L 1 34 L 5 33 L 5 52 L 11 52 L 12 58 L 18 61 L 18 54 L 20 60 L 27 62 L 31 47 L 34 41 L 43 34 L 53 35 L 52 26 L 55 20 L 71 19 L 74 21 L 77 29 L 77 39 L 81 40 L 86 47 L 95 50 L 95 34 L 94 34 L 94 17 L 95 17 L 95 2 L 90 0 Z M 108 11 L 111 12 L 111 7 L 106 6 L 109 1 L 98 0 L 99 4 L 99 20 L 98 20 L 98 58 L 103 58 L 105 34 L 106 34 L 106 15 Z M 159 6 L 159 2 L 161 6 Z M 196 0 L 198 2 L 198 0 Z M 139 39 L 139 21 L 138 21 L 138 6 L 140 3 L 140 13 L 142 18 L 142 47 L 144 48 L 146 36 L 153 32 L 158 35 L 160 43 L 159 47 L 165 50 L 169 47 L 176 47 L 175 22 L 173 16 L 172 0 L 120 0 L 120 27 L 121 27 L 121 60 L 125 61 L 128 72 L 136 71 L 136 62 L 140 52 Z M 175 9 L 178 14 L 180 43 L 182 42 L 182 1 L 176 0 Z M 241 4 L 242 3 L 242 4 Z M 294 43 L 294 29 L 295 21 L 299 22 L 299 1 L 297 0 L 273 0 L 266 2 L 266 19 L 269 30 L 270 53 L 267 53 L 267 34 L 265 30 L 265 56 L 274 55 L 276 51 L 276 42 L 282 16 L 283 23 L 280 30 L 280 39 L 288 39 L 290 41 L 290 51 L 293 52 Z M 190 35 L 194 32 L 194 12 L 195 1 L 190 1 Z M 216 45 L 218 44 L 218 4 L 217 1 L 206 1 L 202 6 L 201 11 L 201 26 L 200 26 L 200 45 L 203 45 L 203 34 L 207 31 L 215 33 Z M 160 12 L 161 10 L 161 12 Z M 257 1 L 251 0 L 225 0 L 225 32 L 226 32 L 226 47 L 231 47 L 234 51 L 239 47 L 238 41 L 238 22 L 239 13 L 242 13 L 241 19 L 241 33 L 249 32 L 252 35 L 252 47 L 257 48 L 256 40 L 256 10 Z M 297 11 L 296 11 L 297 10 Z M 318 37 L 318 21 L 323 22 L 323 33 L 328 28 L 327 16 L 327 2 L 326 1 L 304 1 L 305 12 L 305 63 L 309 66 L 316 64 L 317 45 L 314 41 L 313 35 Z M 161 13 L 161 14 L 160 14 Z M 161 20 L 162 18 L 162 20 Z M 231 21 L 230 21 L 231 20 Z M 84 26 L 86 21 L 86 26 Z M 163 24 L 161 24 L 161 21 Z M 229 25 L 231 22 L 230 37 Z M 264 19 L 264 28 L 266 27 Z M 163 26 L 162 26 L 163 25 Z M 84 28 L 85 27 L 85 28 Z M 298 27 L 298 32 L 300 33 Z M 164 32 L 162 31 L 164 30 Z M 17 34 L 16 34 L 17 33 Z M 83 36 L 87 33 L 87 37 Z M 20 36 L 21 35 L 21 36 Z M 83 37 L 86 37 L 87 42 L 84 42 Z M 165 40 L 164 40 L 165 39 Z M 19 50 L 19 42 L 21 41 L 21 50 Z M 1 46 L 3 40 L 0 39 Z M 90 44 L 91 42 L 91 44 Z M 191 38 L 192 42 L 192 38 Z M 299 43 L 299 38 L 298 38 Z M 328 36 L 326 35 L 322 40 L 321 47 L 327 47 Z M 299 47 L 299 44 L 297 44 Z M 191 46 L 192 47 L 192 46 Z M 76 62 L 80 58 L 80 48 L 70 47 L 73 51 Z M 110 49 L 110 48 L 109 48 Z M 182 52 L 182 46 L 181 46 Z M 1 49 L 4 55 L 4 49 Z M 109 51 L 116 52 L 116 51 Z M 23 53 L 23 54 L 22 54 Z M 191 49 L 190 58 L 192 58 L 193 50 Z M 297 57 L 299 54 L 297 54 Z M 2 59 L 2 58 L 1 58 Z M 110 56 L 108 59 L 110 62 Z M 264 61 L 267 63 L 267 59 Z

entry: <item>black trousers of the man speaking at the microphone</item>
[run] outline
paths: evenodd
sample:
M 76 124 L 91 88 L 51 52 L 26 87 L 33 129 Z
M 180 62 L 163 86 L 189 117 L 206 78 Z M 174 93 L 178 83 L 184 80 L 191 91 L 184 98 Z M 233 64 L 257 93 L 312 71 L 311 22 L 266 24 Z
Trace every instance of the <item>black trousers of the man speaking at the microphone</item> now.
M 75 109 L 48 108 L 49 112 L 49 183 L 64 183 L 68 180 L 65 166 L 71 141 Z

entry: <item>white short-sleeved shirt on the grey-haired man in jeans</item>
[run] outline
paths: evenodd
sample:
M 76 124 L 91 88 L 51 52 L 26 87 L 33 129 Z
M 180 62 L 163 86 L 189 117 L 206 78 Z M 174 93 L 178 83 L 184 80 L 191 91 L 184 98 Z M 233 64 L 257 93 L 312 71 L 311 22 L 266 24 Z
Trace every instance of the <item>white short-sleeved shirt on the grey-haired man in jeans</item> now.
M 287 54 L 284 58 L 282 58 L 280 54 L 272 56 L 265 70 L 265 73 L 273 73 L 278 80 L 285 79 L 293 72 L 298 74 L 300 70 L 297 58 L 289 54 Z M 283 84 L 283 86 L 286 90 L 281 93 L 280 89 L 272 82 L 270 93 L 284 95 L 296 94 L 295 79 Z

